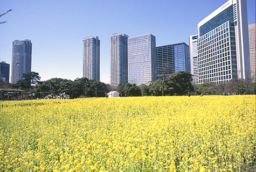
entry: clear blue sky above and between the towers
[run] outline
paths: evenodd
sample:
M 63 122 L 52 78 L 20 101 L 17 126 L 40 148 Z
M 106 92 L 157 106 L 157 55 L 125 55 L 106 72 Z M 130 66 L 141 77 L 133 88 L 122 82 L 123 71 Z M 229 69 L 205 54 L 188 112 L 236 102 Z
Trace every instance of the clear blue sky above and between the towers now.
M 109 83 L 109 38 L 151 33 L 156 46 L 186 42 L 197 24 L 227 0 L 0 0 L 0 60 L 11 66 L 12 41 L 32 42 L 32 71 L 41 80 L 82 77 L 82 39 L 100 38 L 100 80 Z M 255 0 L 247 0 L 248 24 Z M 11 70 L 10 70 L 11 75 Z M 11 76 L 10 76 L 11 77 Z

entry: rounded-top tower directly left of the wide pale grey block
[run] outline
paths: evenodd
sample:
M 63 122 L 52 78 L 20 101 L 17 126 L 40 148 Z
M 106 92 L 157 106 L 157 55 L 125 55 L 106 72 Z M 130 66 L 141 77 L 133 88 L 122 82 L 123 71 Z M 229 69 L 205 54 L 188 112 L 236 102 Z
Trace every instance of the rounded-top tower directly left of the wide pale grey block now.
M 115 33 L 110 37 L 110 85 L 128 83 L 128 36 Z

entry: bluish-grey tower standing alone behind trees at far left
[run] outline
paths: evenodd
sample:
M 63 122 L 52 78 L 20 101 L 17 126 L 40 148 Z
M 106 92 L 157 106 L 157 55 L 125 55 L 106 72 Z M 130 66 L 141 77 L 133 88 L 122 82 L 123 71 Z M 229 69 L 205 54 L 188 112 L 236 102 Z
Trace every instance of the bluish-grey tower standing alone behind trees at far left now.
M 32 43 L 30 40 L 14 40 L 12 42 L 11 83 L 15 84 L 24 73 L 31 72 Z

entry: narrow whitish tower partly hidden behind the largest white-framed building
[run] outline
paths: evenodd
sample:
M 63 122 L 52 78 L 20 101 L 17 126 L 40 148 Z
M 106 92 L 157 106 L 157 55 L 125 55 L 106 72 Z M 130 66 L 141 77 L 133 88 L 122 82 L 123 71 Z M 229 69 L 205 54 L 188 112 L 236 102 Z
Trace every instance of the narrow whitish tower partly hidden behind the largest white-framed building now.
M 198 85 L 198 59 L 197 59 L 197 39 L 198 34 L 189 37 L 190 46 L 190 68 L 193 75 L 193 83 Z

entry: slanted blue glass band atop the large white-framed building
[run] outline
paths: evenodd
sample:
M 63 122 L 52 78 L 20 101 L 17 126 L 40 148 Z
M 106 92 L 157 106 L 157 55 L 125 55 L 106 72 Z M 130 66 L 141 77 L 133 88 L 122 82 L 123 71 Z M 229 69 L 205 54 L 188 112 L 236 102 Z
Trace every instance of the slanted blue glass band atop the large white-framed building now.
M 226 21 L 233 21 L 233 5 L 229 6 L 229 8 L 220 12 L 217 16 L 213 17 L 211 20 L 207 21 L 204 25 L 199 27 L 199 35 L 200 37 L 207 32 L 213 30 L 213 28 L 222 25 Z

